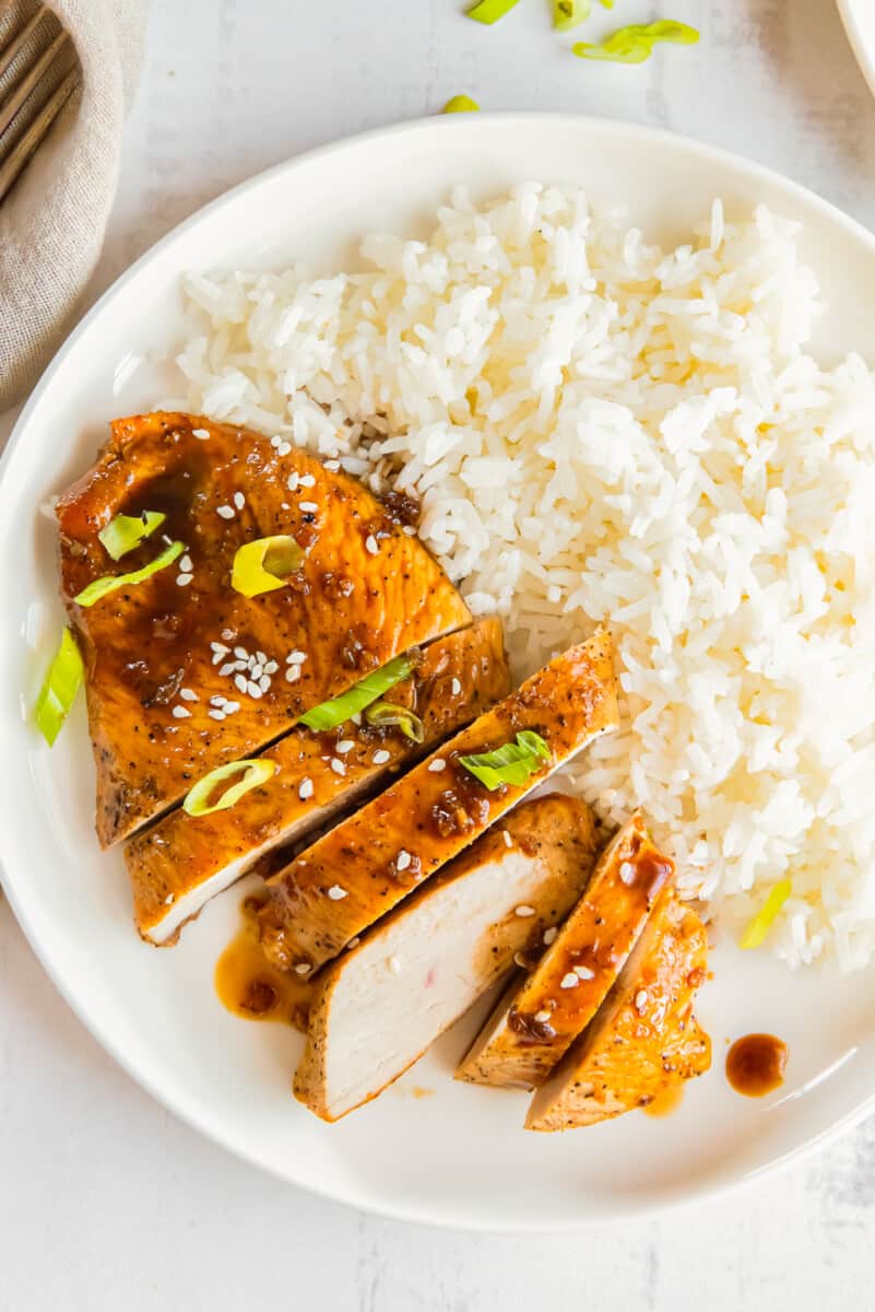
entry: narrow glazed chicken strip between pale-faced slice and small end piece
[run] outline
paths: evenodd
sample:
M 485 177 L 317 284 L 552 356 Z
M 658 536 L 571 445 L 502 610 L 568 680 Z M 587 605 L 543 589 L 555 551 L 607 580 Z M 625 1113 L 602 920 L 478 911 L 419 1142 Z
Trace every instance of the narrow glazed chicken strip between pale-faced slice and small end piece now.
M 532 1089 L 592 1021 L 675 865 L 641 815 L 601 854 L 583 897 L 521 985 L 511 985 L 457 1078 Z

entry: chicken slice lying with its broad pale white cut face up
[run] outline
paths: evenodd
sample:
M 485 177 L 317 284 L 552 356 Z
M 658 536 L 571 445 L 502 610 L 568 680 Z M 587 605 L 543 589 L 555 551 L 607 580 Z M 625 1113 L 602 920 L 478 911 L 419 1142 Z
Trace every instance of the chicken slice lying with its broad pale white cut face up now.
M 327 967 L 295 1093 L 325 1120 L 375 1098 L 534 947 L 578 897 L 588 807 L 524 803 Z

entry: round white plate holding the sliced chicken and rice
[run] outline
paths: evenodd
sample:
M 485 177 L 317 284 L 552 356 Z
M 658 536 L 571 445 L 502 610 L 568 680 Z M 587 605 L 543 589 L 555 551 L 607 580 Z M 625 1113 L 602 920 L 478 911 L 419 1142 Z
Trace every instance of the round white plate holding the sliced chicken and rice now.
M 344 142 L 254 178 L 119 279 L 18 422 L 0 488 L 0 853 L 12 905 L 71 1006 L 193 1126 L 286 1179 L 360 1207 L 532 1231 L 690 1199 L 853 1123 L 875 1089 L 871 976 L 792 976 L 762 954 L 719 946 L 699 1005 L 714 1068 L 667 1119 L 635 1114 L 566 1136 L 528 1135 L 525 1096 L 453 1082 L 465 1038 L 457 1030 L 369 1107 L 324 1126 L 289 1096 L 297 1035 L 234 1019 L 214 994 L 214 963 L 238 897 L 212 904 L 174 950 L 140 943 L 121 858 L 101 855 L 92 830 L 81 705 L 52 752 L 25 722 L 62 622 L 54 529 L 38 506 L 89 464 L 110 416 L 148 409 L 172 388 L 172 371 L 148 356 L 181 332 L 181 272 L 301 257 L 333 269 L 355 258 L 355 240 L 369 228 L 418 232 L 455 182 L 485 194 L 524 178 L 583 182 L 625 201 L 665 241 L 684 237 L 715 194 L 730 214 L 766 202 L 804 223 L 804 253 L 829 300 L 824 353 L 855 345 L 875 358 L 875 239 L 792 184 L 677 136 L 574 117 L 455 115 Z M 762 1101 L 739 1098 L 723 1075 L 726 1040 L 751 1030 L 790 1044 L 787 1082 Z M 423 1088 L 434 1096 L 417 1097 Z

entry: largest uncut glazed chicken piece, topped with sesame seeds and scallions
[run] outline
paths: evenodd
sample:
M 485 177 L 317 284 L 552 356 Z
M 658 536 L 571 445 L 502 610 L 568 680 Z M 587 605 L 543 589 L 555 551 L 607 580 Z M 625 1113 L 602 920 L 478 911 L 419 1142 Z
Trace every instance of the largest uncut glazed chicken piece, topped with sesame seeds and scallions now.
M 111 434 L 58 502 L 103 846 L 393 656 L 470 623 L 392 509 L 300 449 L 174 413 L 117 420 Z M 115 563 L 98 533 L 119 512 L 145 510 L 165 522 Z M 293 538 L 305 559 L 287 586 L 244 597 L 231 586 L 237 548 L 272 535 Z M 148 565 L 165 539 L 186 548 L 168 568 L 76 604 L 96 579 Z

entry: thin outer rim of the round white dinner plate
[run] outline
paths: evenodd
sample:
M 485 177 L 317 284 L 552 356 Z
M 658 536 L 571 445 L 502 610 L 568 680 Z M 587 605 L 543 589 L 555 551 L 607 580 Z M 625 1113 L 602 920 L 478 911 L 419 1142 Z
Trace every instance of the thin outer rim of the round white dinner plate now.
M 851 13 L 850 5 L 854 0 L 838 0 L 842 13 Z M 875 67 L 874 67 L 875 73 Z M 462 119 L 465 119 L 462 122 Z M 820 214 L 829 219 L 838 228 L 844 230 L 849 236 L 862 240 L 865 245 L 868 247 L 872 260 L 875 260 L 875 234 L 870 232 L 862 223 L 853 219 L 850 215 L 845 214 L 832 202 L 824 199 L 816 192 L 810 188 L 803 186 L 800 182 L 795 182 L 792 178 L 777 169 L 770 169 L 762 164 L 748 160 L 744 155 L 739 155 L 735 151 L 726 150 L 723 147 L 710 146 L 706 142 L 701 142 L 694 136 L 688 136 L 682 133 L 673 133 L 663 127 L 652 127 L 646 123 L 624 122 L 622 119 L 613 118 L 599 118 L 592 114 L 574 114 L 574 113 L 554 113 L 554 112 L 519 112 L 519 110 L 495 110 L 489 113 L 477 113 L 474 115 L 448 115 L 441 118 L 440 115 L 430 115 L 424 118 L 407 119 L 402 123 L 389 125 L 388 127 L 369 129 L 363 133 L 351 134 L 348 136 L 339 138 L 338 140 L 329 142 L 327 144 L 314 147 L 312 150 L 304 151 L 300 155 L 295 155 L 291 159 L 283 160 L 279 164 L 274 164 L 267 169 L 262 169 L 259 173 L 253 174 L 253 177 L 238 182 L 236 186 L 220 195 L 208 201 L 200 209 L 195 210 L 187 219 L 178 223 L 168 234 L 165 234 L 158 241 L 156 241 L 148 251 L 139 256 L 134 264 L 131 264 L 96 300 L 96 303 L 88 310 L 79 324 L 73 328 L 69 336 L 64 340 L 62 346 L 58 349 L 56 354 L 52 357 L 51 362 L 42 374 L 39 382 L 34 387 L 33 392 L 28 398 L 21 415 L 9 436 L 7 447 L 0 457 L 0 497 L 4 492 L 5 479 L 9 474 L 13 459 L 17 458 L 18 447 L 22 441 L 24 433 L 30 424 L 30 416 L 37 409 L 42 396 L 52 386 L 55 375 L 63 367 L 65 357 L 69 354 L 75 344 L 83 337 L 90 325 L 102 315 L 105 307 L 110 304 L 122 291 L 126 289 L 127 283 L 145 268 L 152 260 L 161 255 L 168 247 L 170 247 L 182 232 L 187 232 L 195 228 L 198 224 L 204 222 L 216 210 L 232 206 L 238 197 L 245 193 L 261 186 L 267 178 L 276 177 L 280 173 L 293 173 L 296 169 L 304 167 L 312 160 L 326 160 L 331 156 L 342 156 L 346 151 L 365 148 L 371 143 L 385 139 L 396 138 L 403 135 L 415 135 L 423 130 L 452 134 L 453 131 L 464 131 L 466 134 L 477 133 L 481 125 L 495 125 L 503 123 L 507 126 L 508 131 L 513 127 L 521 126 L 541 126 L 545 130 L 555 130 L 561 125 L 576 125 L 576 127 L 584 127 L 593 133 L 601 133 L 606 136 L 617 138 L 633 138 L 644 143 L 651 143 L 655 148 L 660 146 L 669 146 L 672 150 L 685 151 L 692 160 L 707 159 L 711 163 L 724 164 L 730 169 L 735 169 L 743 173 L 752 184 L 757 180 L 769 182 L 772 186 L 777 186 L 779 190 L 789 197 L 795 197 L 804 201 L 806 205 L 812 206 L 819 210 Z M 1 794 L 0 794 L 1 802 Z M 55 970 L 55 964 L 50 954 L 43 951 L 39 937 L 33 926 L 33 922 L 28 914 L 28 911 L 17 895 L 16 880 L 10 871 L 9 854 L 7 850 L 5 841 L 5 827 L 0 825 L 0 884 L 5 892 L 9 905 L 16 916 L 22 933 L 25 934 L 30 947 L 33 949 L 41 966 L 51 979 L 52 984 L 64 998 L 67 1005 L 71 1008 L 73 1014 L 83 1022 L 86 1030 L 97 1039 L 105 1052 L 113 1057 L 113 1060 L 136 1082 L 144 1089 L 151 1097 L 156 1099 L 161 1106 L 166 1107 L 176 1117 L 179 1118 L 185 1124 L 190 1126 L 193 1130 L 204 1135 L 207 1139 L 212 1140 L 220 1148 L 231 1152 L 234 1157 L 255 1166 L 261 1170 L 266 1170 L 269 1174 L 286 1183 L 295 1185 L 310 1194 L 320 1198 L 325 1198 L 330 1202 L 343 1203 L 348 1207 L 356 1207 L 362 1211 L 367 1211 L 372 1215 L 385 1216 L 390 1220 L 406 1221 L 409 1224 L 417 1225 L 434 1225 L 448 1231 L 468 1231 L 468 1232 L 481 1232 L 481 1233 L 508 1233 L 515 1235 L 523 1231 L 529 1233 L 563 1233 L 579 1231 L 584 1227 L 599 1227 L 612 1223 L 617 1223 L 621 1219 L 638 1219 L 646 1216 L 655 1216 L 668 1212 L 675 1212 L 685 1207 L 693 1206 L 696 1202 L 702 1199 L 713 1199 L 717 1197 L 728 1197 L 735 1194 L 740 1189 L 745 1187 L 752 1181 L 756 1181 L 766 1174 L 770 1174 L 781 1168 L 789 1165 L 790 1162 L 802 1161 L 815 1152 L 825 1148 L 828 1144 L 836 1141 L 841 1135 L 849 1132 L 859 1122 L 875 1109 L 875 1088 L 872 1092 L 861 1099 L 861 1102 L 847 1111 L 844 1117 L 840 1117 L 836 1122 L 813 1134 L 804 1143 L 798 1144 L 789 1151 L 779 1153 L 772 1160 L 756 1166 L 740 1174 L 735 1179 L 718 1178 L 710 1183 L 703 1183 L 696 1190 L 690 1191 L 684 1197 L 669 1197 L 663 1199 L 646 1199 L 641 1203 L 631 1204 L 626 1207 L 620 1214 L 612 1214 L 608 1218 L 597 1216 L 570 1216 L 562 1220 L 540 1221 L 537 1218 L 527 1218 L 523 1220 L 496 1220 L 486 1221 L 481 1215 L 468 1214 L 456 1208 L 456 1215 L 448 1216 L 443 1210 L 430 1208 L 418 1203 L 413 1203 L 407 1207 L 394 1204 L 385 1199 L 373 1199 L 369 1197 L 367 1189 L 362 1186 L 347 1185 L 343 1189 L 329 1189 L 322 1187 L 318 1181 L 303 1179 L 292 1174 L 292 1172 L 280 1168 L 280 1165 L 272 1165 L 265 1162 L 251 1153 L 249 1153 L 245 1145 L 229 1141 L 227 1138 L 227 1131 L 224 1123 L 216 1122 L 216 1119 L 208 1113 L 207 1109 L 199 1105 L 191 1105 L 189 1099 L 183 1096 L 177 1096 L 172 1089 L 165 1088 L 165 1082 L 160 1075 L 153 1073 L 151 1069 L 144 1069 L 141 1064 L 130 1056 L 124 1050 L 117 1036 L 110 1033 L 110 1026 L 105 1025 L 98 1017 L 93 1015 L 89 1008 L 89 1001 L 79 996 L 79 992 L 68 984 L 68 981 Z

